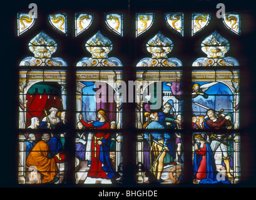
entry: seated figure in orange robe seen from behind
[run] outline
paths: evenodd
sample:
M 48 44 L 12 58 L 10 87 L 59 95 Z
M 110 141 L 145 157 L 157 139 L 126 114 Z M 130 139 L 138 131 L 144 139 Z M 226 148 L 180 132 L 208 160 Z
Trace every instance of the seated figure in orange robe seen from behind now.
M 35 144 L 28 154 L 27 166 L 35 166 L 39 173 L 43 174 L 42 183 L 55 183 L 58 181 L 58 166 L 54 158 L 51 157 L 49 146 L 49 134 L 43 134 L 41 141 Z

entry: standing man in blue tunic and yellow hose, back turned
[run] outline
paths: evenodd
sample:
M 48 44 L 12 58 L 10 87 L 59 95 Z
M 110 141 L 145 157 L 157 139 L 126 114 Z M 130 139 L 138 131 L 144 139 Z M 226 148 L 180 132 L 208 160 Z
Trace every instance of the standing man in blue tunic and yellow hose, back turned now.
M 163 125 L 161 125 L 158 120 L 158 113 L 152 113 L 150 115 L 151 123 L 146 126 L 146 129 L 165 129 Z M 170 138 L 168 133 L 145 133 L 144 138 L 150 144 L 150 136 L 151 134 L 153 139 L 153 144 L 151 146 L 151 150 L 153 151 L 154 161 L 153 161 L 153 174 L 155 174 L 156 179 L 159 183 L 163 183 L 163 179 L 161 179 L 161 173 L 163 171 L 163 161 L 165 159 L 166 151 L 169 151 L 167 148 L 167 142 Z M 159 157 L 158 157 L 159 156 Z

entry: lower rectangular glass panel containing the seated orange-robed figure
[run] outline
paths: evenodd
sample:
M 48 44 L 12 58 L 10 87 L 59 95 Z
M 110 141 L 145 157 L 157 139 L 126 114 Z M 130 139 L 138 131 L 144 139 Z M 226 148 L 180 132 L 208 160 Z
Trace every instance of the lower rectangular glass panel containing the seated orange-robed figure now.
M 66 183 L 65 134 L 19 133 L 19 184 Z

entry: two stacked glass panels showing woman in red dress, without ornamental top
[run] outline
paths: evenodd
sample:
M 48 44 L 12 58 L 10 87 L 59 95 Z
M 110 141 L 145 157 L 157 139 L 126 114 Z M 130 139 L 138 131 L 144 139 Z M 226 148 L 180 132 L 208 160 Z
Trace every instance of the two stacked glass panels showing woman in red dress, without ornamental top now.
M 122 126 L 121 78 L 121 71 L 76 73 L 76 129 L 89 130 L 76 137 L 76 183 L 111 184 L 121 179 L 122 134 L 106 132 Z

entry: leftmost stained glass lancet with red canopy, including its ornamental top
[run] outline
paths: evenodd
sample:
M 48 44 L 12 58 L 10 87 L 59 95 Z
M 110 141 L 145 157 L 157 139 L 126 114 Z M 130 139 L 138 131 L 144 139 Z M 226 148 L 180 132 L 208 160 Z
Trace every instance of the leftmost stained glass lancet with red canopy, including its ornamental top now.
M 23 59 L 21 68 L 65 63 L 51 58 L 52 41 L 41 32 L 29 42 L 35 57 Z M 19 183 L 65 183 L 66 70 L 20 69 L 19 86 L 19 129 L 26 129 L 19 133 Z

